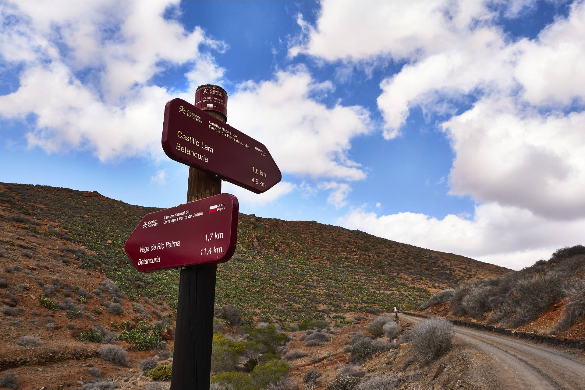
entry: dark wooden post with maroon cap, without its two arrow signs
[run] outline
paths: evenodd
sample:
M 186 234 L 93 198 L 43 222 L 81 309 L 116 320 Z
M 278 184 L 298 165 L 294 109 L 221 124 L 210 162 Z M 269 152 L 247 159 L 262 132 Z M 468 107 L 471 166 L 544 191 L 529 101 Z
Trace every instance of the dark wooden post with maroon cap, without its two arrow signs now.
M 204 93 L 205 92 L 205 93 Z M 228 94 L 201 85 L 195 106 L 226 122 Z M 221 178 L 189 168 L 187 202 L 221 194 Z M 181 268 L 171 389 L 209 389 L 217 264 Z

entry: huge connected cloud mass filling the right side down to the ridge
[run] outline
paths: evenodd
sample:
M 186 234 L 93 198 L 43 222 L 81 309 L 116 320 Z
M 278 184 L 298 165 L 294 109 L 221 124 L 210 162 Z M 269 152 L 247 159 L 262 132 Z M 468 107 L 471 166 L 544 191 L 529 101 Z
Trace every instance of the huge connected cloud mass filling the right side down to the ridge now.
M 290 56 L 346 70 L 401 64 L 380 82 L 383 136 L 409 131 L 415 108 L 435 115 L 455 154 L 450 194 L 477 202 L 472 219 L 356 209 L 340 224 L 491 263 L 507 258 L 514 268 L 582 243 L 585 3 L 536 38 L 504 32 L 505 18 L 534 10 L 529 2 L 323 2 L 314 26 L 300 16 Z

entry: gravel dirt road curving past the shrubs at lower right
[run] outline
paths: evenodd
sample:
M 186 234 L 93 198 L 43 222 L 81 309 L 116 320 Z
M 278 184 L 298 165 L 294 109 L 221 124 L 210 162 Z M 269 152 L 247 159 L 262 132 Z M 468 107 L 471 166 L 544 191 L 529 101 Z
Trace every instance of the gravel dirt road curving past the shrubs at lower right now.
M 423 319 L 400 314 L 415 325 Z M 454 347 L 470 353 L 478 388 L 585 389 L 585 354 L 455 326 Z

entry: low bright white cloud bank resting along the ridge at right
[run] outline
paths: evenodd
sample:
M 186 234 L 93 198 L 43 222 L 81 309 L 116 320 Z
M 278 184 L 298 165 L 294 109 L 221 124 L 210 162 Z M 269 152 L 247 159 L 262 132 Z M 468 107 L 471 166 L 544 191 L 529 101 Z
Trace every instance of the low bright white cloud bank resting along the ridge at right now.
M 472 219 L 456 215 L 438 219 L 411 212 L 378 216 L 357 208 L 337 223 L 347 229 L 515 269 L 548 258 L 559 247 L 580 244 L 585 230 L 585 218 L 549 220 L 526 209 L 497 203 L 476 206 Z

